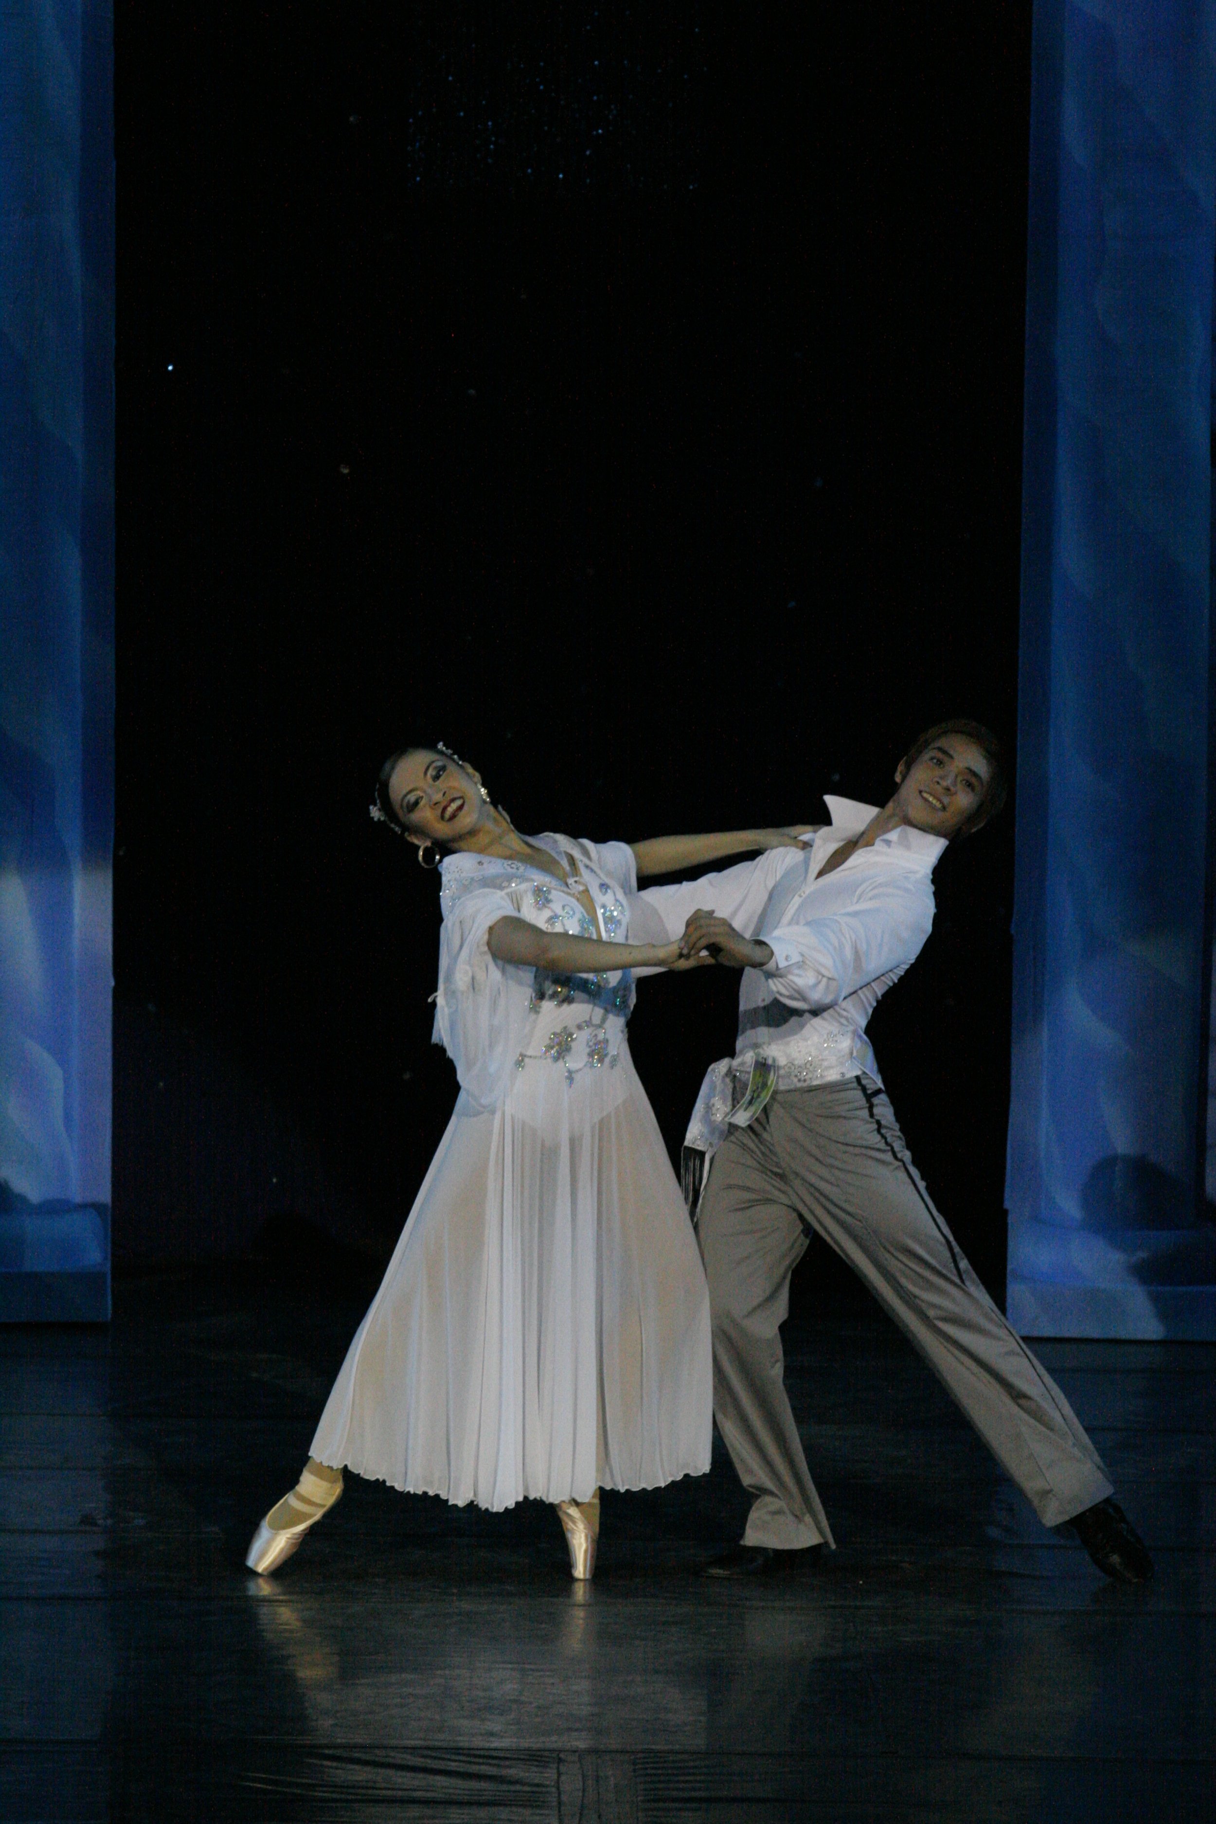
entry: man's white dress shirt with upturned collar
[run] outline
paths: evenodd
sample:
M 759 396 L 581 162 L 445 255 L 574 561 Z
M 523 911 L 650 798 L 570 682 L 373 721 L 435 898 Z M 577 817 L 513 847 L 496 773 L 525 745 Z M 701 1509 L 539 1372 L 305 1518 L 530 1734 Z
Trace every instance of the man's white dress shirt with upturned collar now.
M 932 876 L 943 837 L 901 824 L 817 879 L 831 852 L 877 815 L 850 799 L 824 803 L 831 824 L 802 848 L 771 848 L 757 861 L 640 894 L 667 939 L 702 908 L 768 943 L 771 961 L 744 970 L 735 1062 L 726 1069 L 740 1078 L 758 1056 L 775 1067 L 777 1089 L 860 1074 L 881 1082 L 866 1021 L 933 927 Z M 720 1100 L 726 1074 L 722 1065 L 715 1071 Z

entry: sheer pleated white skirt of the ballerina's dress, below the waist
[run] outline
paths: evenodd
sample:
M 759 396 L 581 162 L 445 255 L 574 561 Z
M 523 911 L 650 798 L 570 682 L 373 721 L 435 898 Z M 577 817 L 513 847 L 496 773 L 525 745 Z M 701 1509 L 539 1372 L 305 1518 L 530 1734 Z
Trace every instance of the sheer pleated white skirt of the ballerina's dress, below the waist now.
M 312 1456 L 505 1508 L 700 1476 L 711 1428 L 706 1277 L 627 1047 L 461 1096 Z

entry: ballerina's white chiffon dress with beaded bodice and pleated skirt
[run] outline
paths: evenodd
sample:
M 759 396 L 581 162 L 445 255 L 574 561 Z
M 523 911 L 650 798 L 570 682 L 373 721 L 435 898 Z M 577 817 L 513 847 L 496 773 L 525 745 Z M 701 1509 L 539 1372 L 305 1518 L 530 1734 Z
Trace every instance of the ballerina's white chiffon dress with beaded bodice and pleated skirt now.
M 505 1508 L 709 1468 L 709 1299 L 625 1042 L 629 972 L 496 961 L 505 916 L 629 941 L 633 850 L 532 837 L 443 861 L 436 1040 L 461 1093 L 312 1456 L 396 1488 Z

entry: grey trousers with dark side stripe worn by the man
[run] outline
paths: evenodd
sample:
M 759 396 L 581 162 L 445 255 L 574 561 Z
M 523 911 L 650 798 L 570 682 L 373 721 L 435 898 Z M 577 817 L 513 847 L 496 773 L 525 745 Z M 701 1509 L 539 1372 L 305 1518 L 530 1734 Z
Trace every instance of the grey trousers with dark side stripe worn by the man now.
M 833 1545 L 782 1379 L 789 1275 L 811 1229 L 860 1273 L 1041 1521 L 1108 1496 L 1072 1408 L 963 1259 L 870 1078 L 778 1091 L 713 1158 L 698 1237 L 713 1410 L 755 1496 L 744 1545 Z

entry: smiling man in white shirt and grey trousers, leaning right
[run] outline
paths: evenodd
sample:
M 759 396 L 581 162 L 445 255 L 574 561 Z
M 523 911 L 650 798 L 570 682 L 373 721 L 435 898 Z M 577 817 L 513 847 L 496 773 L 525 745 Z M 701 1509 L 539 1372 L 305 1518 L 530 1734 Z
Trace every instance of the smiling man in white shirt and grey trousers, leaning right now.
M 924 1355 L 1048 1527 L 1107 1576 L 1152 1560 L 1059 1388 L 1006 1324 L 933 1207 L 891 1113 L 866 1021 L 933 923 L 933 863 L 1005 801 L 977 722 L 928 730 L 882 810 L 828 799 L 804 850 L 647 888 L 667 938 L 742 969 L 735 1058 L 689 1127 L 706 1160 L 698 1235 L 713 1313 L 715 1417 L 753 1505 L 707 1576 L 806 1565 L 831 1529 L 782 1381 L 789 1275 L 819 1231 Z M 711 907 L 713 910 L 702 910 Z M 685 1162 L 689 1151 L 685 1147 Z M 700 1173 L 693 1173 L 693 1184 Z

